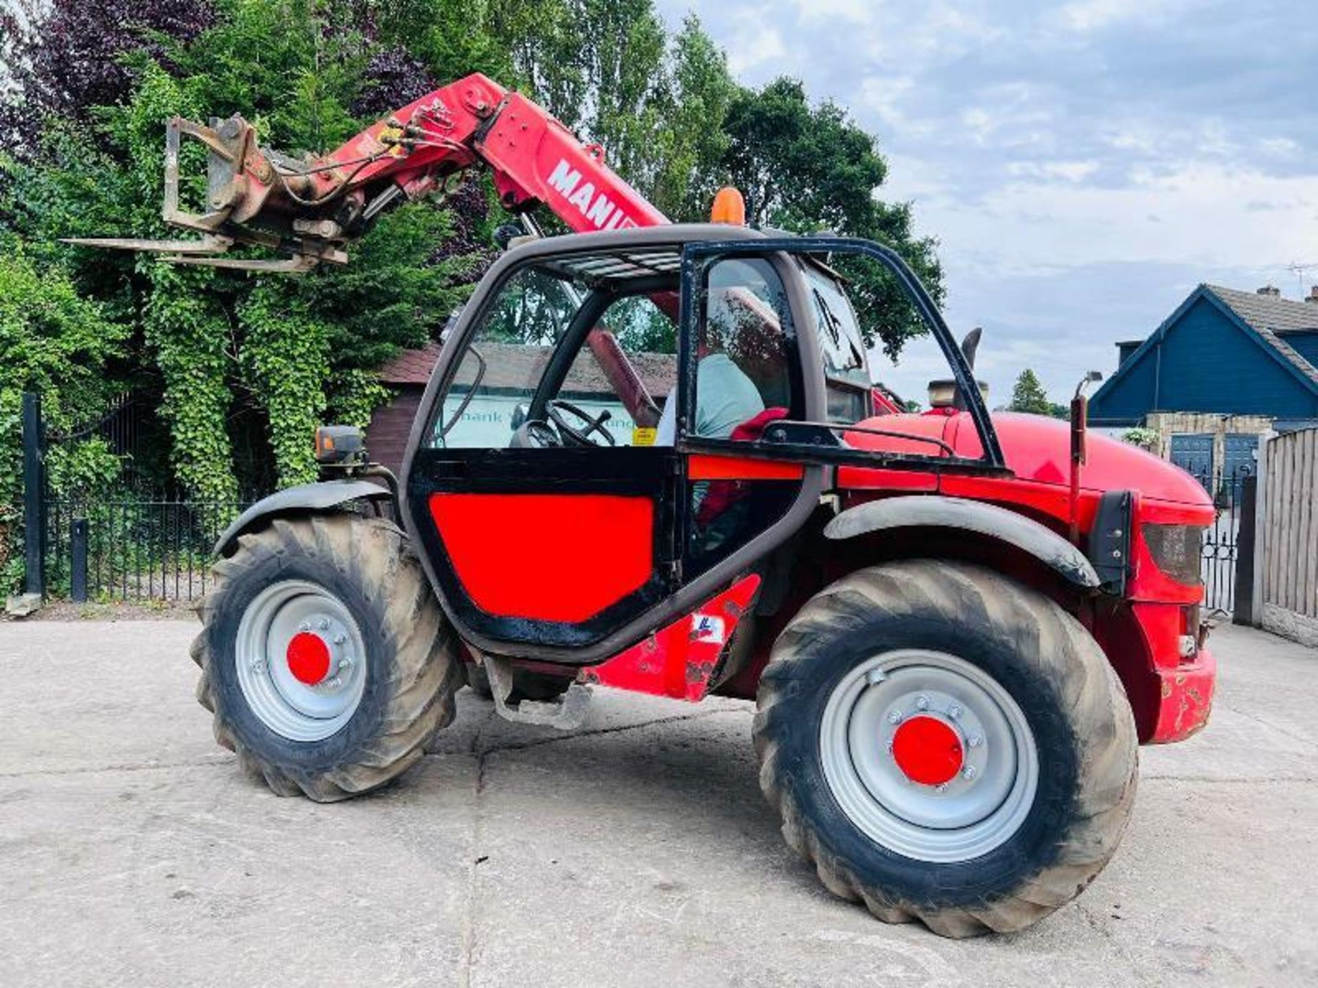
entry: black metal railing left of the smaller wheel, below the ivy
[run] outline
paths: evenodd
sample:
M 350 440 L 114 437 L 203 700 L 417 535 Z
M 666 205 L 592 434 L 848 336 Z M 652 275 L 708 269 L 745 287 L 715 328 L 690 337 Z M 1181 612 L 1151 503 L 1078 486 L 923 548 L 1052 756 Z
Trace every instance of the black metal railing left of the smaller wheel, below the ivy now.
M 46 593 L 75 601 L 198 601 L 214 582 L 216 539 L 249 503 L 152 493 L 49 499 Z

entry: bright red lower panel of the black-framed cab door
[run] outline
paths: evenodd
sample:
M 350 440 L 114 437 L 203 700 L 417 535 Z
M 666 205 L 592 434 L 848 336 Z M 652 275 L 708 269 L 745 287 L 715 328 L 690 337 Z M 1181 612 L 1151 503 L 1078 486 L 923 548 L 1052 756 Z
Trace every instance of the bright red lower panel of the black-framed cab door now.
M 453 572 L 486 614 L 587 620 L 654 572 L 650 498 L 439 493 L 430 512 Z

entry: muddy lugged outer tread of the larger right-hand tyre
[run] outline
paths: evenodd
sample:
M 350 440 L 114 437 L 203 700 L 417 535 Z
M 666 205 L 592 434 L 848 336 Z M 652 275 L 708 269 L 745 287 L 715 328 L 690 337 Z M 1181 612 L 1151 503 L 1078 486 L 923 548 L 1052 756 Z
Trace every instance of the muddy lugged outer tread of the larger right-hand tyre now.
M 891 617 L 920 613 L 958 618 L 958 597 L 977 594 L 990 619 L 1037 636 L 1021 648 L 1033 673 L 1062 684 L 1065 702 L 1083 739 L 1079 792 L 1083 804 L 1065 835 L 1056 863 L 1021 881 L 1008 896 L 969 906 L 928 908 L 866 888 L 846 860 L 830 854 L 796 804 L 778 757 L 776 722 L 783 700 L 795 689 L 793 663 L 813 634 L 836 628 L 866 611 Z M 919 919 L 944 937 L 973 937 L 988 930 L 1020 930 L 1069 902 L 1103 869 L 1130 819 L 1137 780 L 1135 722 L 1120 681 L 1085 627 L 1049 598 L 991 569 L 942 560 L 905 560 L 857 570 L 811 598 L 784 628 L 760 677 L 754 721 L 760 759 L 760 789 L 783 821 L 787 843 L 813 862 L 833 894 L 861 900 L 884 922 Z

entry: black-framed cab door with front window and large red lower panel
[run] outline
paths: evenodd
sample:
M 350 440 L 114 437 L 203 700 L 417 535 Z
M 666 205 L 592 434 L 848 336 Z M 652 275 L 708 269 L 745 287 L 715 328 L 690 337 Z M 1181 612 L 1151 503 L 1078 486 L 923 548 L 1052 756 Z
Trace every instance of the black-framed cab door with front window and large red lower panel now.
M 530 265 L 449 340 L 414 436 L 409 527 L 449 617 L 488 648 L 588 647 L 668 597 L 676 453 L 647 441 L 658 408 L 635 422 L 597 356 L 637 349 L 610 324 L 660 316 Z M 613 344 L 592 348 L 592 329 Z M 676 379 L 675 336 L 654 337 L 655 390 Z

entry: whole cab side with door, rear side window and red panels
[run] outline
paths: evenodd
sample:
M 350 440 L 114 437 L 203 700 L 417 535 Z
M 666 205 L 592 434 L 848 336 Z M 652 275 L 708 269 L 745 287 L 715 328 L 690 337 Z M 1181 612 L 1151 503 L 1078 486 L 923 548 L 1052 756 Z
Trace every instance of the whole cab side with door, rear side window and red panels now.
M 701 433 L 750 449 L 774 414 L 804 406 L 775 265 L 713 266 L 718 291 L 684 329 L 679 265 L 672 246 L 506 257 L 445 344 L 405 515 L 477 647 L 598 661 L 726 589 L 817 502 L 799 464 L 685 448 Z

